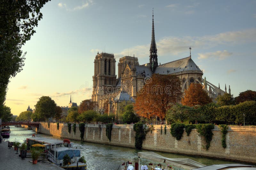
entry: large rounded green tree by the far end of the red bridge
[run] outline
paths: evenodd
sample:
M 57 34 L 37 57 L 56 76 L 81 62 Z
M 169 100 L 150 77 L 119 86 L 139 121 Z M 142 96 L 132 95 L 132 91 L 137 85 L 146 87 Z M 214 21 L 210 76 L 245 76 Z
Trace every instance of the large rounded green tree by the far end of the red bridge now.
M 55 116 L 56 103 L 49 96 L 40 97 L 36 105 L 36 114 L 38 120 L 47 120 L 48 118 Z

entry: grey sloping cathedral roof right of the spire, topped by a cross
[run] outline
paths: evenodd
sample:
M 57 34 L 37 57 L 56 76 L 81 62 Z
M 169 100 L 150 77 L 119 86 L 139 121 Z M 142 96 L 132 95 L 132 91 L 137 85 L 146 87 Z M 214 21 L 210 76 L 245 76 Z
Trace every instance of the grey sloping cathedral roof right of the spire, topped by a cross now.
M 161 64 L 158 67 L 156 67 L 155 73 L 174 74 L 183 71 L 196 71 L 203 74 L 203 72 L 199 69 L 199 67 L 191 59 L 190 56 L 180 60 L 175 60 L 172 62 Z

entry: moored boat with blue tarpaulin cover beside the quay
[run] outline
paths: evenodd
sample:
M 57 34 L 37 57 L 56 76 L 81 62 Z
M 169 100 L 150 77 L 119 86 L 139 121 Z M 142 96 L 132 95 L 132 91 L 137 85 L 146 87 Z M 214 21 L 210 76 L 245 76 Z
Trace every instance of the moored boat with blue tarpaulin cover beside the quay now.
M 74 145 L 69 139 L 58 140 L 42 137 L 27 138 L 27 148 L 30 148 L 31 145 L 34 144 L 44 145 L 45 152 L 48 154 L 48 160 L 64 169 L 87 169 L 86 163 L 79 162 L 79 159 L 81 158 L 80 146 Z M 70 162 L 68 165 L 63 165 L 63 159 L 66 154 L 70 157 Z

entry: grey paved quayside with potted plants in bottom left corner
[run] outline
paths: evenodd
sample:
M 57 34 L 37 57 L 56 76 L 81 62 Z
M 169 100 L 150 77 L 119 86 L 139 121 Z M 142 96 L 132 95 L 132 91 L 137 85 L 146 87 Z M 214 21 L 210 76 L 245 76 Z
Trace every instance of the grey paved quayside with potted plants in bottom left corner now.
M 17 151 L 14 151 L 14 148 L 8 149 L 8 142 L 3 142 L 0 144 L 0 169 L 1 170 L 51 170 L 58 169 L 64 170 L 63 168 L 49 163 L 49 162 L 37 162 L 37 164 L 32 164 L 29 161 L 32 161 L 32 158 L 21 159 L 19 154 L 15 154 Z M 20 153 L 20 150 L 18 151 Z

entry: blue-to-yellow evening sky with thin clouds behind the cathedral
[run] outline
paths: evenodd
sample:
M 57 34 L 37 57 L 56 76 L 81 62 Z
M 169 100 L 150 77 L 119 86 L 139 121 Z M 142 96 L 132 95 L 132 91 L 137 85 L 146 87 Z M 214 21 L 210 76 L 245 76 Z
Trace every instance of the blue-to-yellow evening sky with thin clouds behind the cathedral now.
M 206 80 L 234 97 L 256 90 L 256 0 L 50 1 L 34 36 L 22 46 L 23 70 L 10 79 L 5 105 L 19 115 L 41 96 L 59 106 L 90 99 L 97 52 L 149 62 L 152 9 L 158 62 L 189 56 Z

